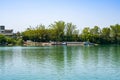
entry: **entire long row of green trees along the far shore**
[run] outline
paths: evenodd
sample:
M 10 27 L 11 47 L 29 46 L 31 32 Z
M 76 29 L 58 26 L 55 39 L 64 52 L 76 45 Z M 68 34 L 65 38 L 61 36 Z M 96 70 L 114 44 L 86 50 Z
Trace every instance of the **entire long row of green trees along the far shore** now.
M 98 26 L 93 28 L 85 27 L 82 32 L 77 29 L 73 23 L 56 21 L 48 27 L 40 24 L 37 27 L 29 27 L 22 32 L 24 41 L 32 40 L 34 42 L 49 41 L 89 41 L 98 44 L 119 44 L 120 43 L 120 25 L 110 25 L 100 29 Z

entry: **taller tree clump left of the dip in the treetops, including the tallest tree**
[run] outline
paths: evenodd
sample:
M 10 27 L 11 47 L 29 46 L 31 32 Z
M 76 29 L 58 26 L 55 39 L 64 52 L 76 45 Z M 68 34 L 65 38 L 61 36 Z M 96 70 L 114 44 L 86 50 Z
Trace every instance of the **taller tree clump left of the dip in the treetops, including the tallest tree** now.
M 23 40 L 32 40 L 37 42 L 48 41 L 79 41 L 79 30 L 72 23 L 58 21 L 45 27 L 38 25 L 36 28 L 28 28 L 22 32 Z

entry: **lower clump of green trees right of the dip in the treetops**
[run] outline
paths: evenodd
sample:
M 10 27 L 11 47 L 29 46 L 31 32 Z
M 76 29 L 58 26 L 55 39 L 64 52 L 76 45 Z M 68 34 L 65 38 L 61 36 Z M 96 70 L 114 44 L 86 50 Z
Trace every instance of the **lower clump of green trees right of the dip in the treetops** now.
M 99 44 L 120 44 L 120 25 L 111 25 L 100 29 L 98 26 L 90 29 L 84 28 L 81 33 L 82 41 L 90 41 Z

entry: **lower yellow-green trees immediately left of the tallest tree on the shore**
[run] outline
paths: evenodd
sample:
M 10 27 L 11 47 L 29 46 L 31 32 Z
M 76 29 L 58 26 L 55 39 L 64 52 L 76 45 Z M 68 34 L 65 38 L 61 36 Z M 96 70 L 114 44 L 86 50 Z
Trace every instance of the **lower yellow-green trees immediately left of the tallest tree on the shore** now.
M 45 25 L 38 25 L 35 28 L 28 28 L 26 31 L 22 33 L 23 39 L 32 40 L 34 42 L 45 42 L 48 40 L 49 33 L 48 30 L 45 28 Z

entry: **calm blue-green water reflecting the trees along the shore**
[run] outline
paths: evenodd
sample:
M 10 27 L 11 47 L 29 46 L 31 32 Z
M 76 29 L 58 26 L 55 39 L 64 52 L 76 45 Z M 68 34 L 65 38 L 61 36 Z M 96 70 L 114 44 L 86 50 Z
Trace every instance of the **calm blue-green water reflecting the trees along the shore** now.
M 120 80 L 120 46 L 0 47 L 0 80 Z

